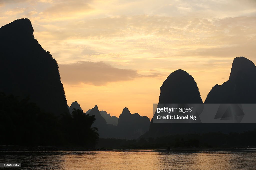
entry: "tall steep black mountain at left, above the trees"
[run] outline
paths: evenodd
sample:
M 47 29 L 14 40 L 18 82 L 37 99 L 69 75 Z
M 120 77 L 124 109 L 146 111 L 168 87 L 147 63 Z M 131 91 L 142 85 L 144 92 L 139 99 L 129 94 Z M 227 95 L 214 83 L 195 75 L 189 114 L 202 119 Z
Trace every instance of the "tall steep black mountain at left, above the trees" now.
M 0 91 L 30 97 L 47 112 L 68 113 L 58 64 L 34 38 L 29 19 L 15 20 L 0 28 Z

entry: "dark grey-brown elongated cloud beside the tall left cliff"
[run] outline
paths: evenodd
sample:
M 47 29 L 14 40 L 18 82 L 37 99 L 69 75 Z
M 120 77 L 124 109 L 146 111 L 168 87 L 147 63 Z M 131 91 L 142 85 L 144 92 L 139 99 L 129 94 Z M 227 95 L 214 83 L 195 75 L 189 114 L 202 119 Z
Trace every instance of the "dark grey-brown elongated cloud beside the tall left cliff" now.
M 159 73 L 138 74 L 136 70 L 115 68 L 104 62 L 82 61 L 72 64 L 59 64 L 61 81 L 67 84 L 106 85 L 109 82 L 130 81 L 140 77 L 158 77 Z

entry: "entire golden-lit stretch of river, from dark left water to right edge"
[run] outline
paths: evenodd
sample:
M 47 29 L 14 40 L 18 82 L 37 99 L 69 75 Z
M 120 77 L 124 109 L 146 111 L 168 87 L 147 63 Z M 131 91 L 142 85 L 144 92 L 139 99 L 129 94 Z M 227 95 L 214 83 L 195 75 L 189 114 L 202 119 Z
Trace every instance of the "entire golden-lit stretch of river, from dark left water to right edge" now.
M 255 169 L 256 152 L 94 151 L 64 155 L 67 169 Z M 75 166 L 70 167 L 74 164 Z

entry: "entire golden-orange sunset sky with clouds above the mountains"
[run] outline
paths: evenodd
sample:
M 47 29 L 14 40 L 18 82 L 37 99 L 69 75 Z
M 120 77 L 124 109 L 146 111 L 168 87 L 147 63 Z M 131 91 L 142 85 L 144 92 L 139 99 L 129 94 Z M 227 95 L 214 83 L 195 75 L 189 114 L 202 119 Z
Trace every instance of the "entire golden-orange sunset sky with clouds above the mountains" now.
M 0 26 L 30 19 L 59 64 L 68 105 L 153 116 L 160 86 L 182 69 L 202 100 L 232 61 L 256 63 L 256 0 L 0 0 Z

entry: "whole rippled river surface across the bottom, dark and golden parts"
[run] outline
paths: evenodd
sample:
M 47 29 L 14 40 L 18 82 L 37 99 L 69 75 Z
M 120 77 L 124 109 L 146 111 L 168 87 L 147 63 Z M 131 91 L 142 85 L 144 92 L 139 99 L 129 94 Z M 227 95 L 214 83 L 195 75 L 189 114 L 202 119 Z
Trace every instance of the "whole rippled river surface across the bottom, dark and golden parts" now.
M 0 151 L 0 163 L 18 162 L 3 169 L 256 169 L 256 151 Z

